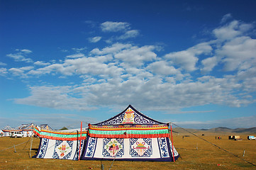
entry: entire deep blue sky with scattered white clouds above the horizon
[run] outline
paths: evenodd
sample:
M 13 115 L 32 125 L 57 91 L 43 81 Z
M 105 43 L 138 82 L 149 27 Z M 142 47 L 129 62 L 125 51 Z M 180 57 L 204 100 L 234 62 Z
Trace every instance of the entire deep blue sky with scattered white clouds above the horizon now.
M 0 128 L 78 128 L 129 104 L 184 128 L 255 127 L 255 8 L 0 0 Z

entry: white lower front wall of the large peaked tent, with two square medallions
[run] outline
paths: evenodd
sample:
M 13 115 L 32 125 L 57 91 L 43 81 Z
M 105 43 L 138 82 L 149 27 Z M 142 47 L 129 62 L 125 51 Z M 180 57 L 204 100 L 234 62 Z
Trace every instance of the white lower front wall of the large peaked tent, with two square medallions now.
M 173 161 L 168 137 L 96 138 L 88 137 L 81 159 L 132 161 Z M 174 157 L 178 153 L 174 149 Z

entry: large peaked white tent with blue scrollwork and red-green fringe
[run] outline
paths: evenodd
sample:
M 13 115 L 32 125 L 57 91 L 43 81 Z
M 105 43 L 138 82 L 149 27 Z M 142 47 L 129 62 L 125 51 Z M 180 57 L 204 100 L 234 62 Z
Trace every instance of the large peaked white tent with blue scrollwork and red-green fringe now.
M 178 157 L 168 125 L 128 106 L 113 118 L 89 125 L 81 159 L 172 162 Z

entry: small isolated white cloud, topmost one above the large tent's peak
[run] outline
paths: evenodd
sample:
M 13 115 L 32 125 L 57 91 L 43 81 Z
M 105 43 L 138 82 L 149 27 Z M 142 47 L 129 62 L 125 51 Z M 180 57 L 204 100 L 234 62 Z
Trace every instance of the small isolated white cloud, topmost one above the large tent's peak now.
M 101 23 L 101 30 L 104 32 L 118 32 L 130 30 L 130 24 L 125 22 L 106 21 L 104 23 Z

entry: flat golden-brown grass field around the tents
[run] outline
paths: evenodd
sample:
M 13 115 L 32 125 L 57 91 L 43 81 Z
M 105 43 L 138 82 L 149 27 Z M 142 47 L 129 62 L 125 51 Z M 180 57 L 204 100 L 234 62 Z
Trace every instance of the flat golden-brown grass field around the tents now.
M 204 136 L 202 135 L 204 133 Z M 176 162 L 112 162 L 70 161 L 60 159 L 33 159 L 30 157 L 30 138 L 0 137 L 0 169 L 256 169 L 256 140 L 247 140 L 249 134 L 236 134 L 241 141 L 228 140 L 228 133 L 196 132 L 174 134 L 174 147 L 180 154 Z M 234 135 L 234 134 L 232 134 Z M 256 135 L 256 134 L 250 134 Z M 221 140 L 216 137 L 221 136 Z M 223 151 L 209 142 L 225 149 Z M 21 144 L 21 145 L 18 145 Z M 13 145 L 18 145 L 15 148 Z M 38 149 L 39 139 L 33 138 L 31 156 Z M 245 155 L 243 157 L 243 152 Z M 16 151 L 16 152 L 15 152 Z M 231 152 L 232 154 L 228 153 Z M 234 156 L 234 155 L 235 156 Z M 245 162 L 250 162 L 249 164 Z M 113 164 L 111 166 L 111 164 Z

